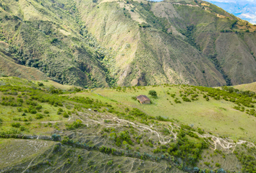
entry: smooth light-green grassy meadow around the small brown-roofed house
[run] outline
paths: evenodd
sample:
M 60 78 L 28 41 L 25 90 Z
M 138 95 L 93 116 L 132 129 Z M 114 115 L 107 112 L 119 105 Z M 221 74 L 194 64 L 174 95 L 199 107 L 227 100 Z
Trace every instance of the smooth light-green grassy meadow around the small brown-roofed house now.
M 178 122 L 194 125 L 197 128 L 202 128 L 220 136 L 229 136 L 234 140 L 242 138 L 252 141 L 256 140 L 256 118 L 254 116 L 235 110 L 232 108 L 236 106 L 233 102 L 212 98 L 206 101 L 203 98 L 203 94 L 205 93 L 199 90 L 197 90 L 198 100 L 184 102 L 179 95 L 180 91 L 184 91 L 186 88 L 189 88 L 189 86 L 145 86 L 126 89 L 124 91 L 116 91 L 116 89 L 95 89 L 92 92 L 76 93 L 75 95 L 94 97 L 102 101 L 110 101 L 112 99 L 119 102 L 119 107 L 135 107 L 148 115 L 177 120 Z M 149 96 L 153 104 L 141 105 L 132 99 L 133 96 L 140 94 L 148 95 L 150 90 L 155 90 L 158 93 L 157 98 Z M 167 92 L 176 94 L 176 96 L 173 98 Z M 182 103 L 174 102 L 176 98 Z

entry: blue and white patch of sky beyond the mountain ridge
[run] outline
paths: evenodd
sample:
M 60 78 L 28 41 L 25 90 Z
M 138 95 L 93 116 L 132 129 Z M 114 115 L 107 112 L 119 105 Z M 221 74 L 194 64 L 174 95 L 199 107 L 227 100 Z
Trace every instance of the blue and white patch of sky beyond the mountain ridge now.
M 205 0 L 256 25 L 256 0 Z

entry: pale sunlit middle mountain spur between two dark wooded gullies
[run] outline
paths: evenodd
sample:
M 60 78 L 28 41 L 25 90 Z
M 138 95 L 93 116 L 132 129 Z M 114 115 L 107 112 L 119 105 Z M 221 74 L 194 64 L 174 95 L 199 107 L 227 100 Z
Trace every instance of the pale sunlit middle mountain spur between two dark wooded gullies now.
M 161 19 L 145 9 L 150 8 L 150 5 L 103 1 L 99 8 L 93 7 L 93 3 L 88 6 L 90 12 L 85 10 L 83 11 L 85 14 L 82 14 L 82 19 L 88 23 L 88 30 L 93 35 L 98 35 L 98 40 L 101 40 L 103 45 L 117 52 L 116 68 L 120 71 L 116 73 L 120 76 L 118 84 L 145 85 L 168 82 L 206 86 L 225 84 L 213 63 L 200 55 L 196 48 L 184 43 L 179 37 L 162 31 L 162 27 L 165 26 Z M 81 11 L 85 9 L 84 6 L 80 7 Z M 124 8 L 121 10 L 123 12 L 120 12 L 120 7 Z M 136 18 L 129 19 L 127 9 L 132 8 L 141 19 L 153 27 L 138 27 Z M 163 22 L 166 21 L 163 19 Z M 129 48 L 125 48 L 127 45 Z M 205 71 L 205 74 L 202 71 Z

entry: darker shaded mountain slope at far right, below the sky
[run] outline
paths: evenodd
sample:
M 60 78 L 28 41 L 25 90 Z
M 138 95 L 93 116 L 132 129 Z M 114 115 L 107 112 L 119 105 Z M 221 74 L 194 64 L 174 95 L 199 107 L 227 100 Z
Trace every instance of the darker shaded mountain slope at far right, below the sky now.
M 237 30 L 236 25 L 232 27 L 232 22 L 238 19 L 217 6 L 206 4 L 206 2 L 198 5 L 205 10 L 202 11 L 199 6 L 173 5 L 177 17 L 169 17 L 170 23 L 176 28 L 183 27 L 183 30 L 190 25 L 191 40 L 189 42 L 197 45 L 197 48 L 215 63 L 228 84 L 255 81 L 253 77 L 255 76 L 255 57 L 252 54 L 252 47 L 255 49 L 255 46 L 247 45 L 244 39 L 244 37 L 250 38 L 249 41 L 255 43 L 253 40 L 255 34 L 240 33 L 241 30 Z M 245 75 L 248 77 L 244 77 Z

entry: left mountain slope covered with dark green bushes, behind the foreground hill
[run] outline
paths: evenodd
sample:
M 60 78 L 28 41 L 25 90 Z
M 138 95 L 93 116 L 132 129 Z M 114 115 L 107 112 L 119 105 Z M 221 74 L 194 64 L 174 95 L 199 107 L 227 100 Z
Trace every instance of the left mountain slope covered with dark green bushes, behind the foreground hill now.
M 51 1 L 39 4 L 22 0 L 5 4 L 6 10 L 1 12 L 1 40 L 9 43 L 13 59 L 64 84 L 108 86 L 98 55 L 85 48 L 88 45 L 82 42 L 85 37 L 79 34 L 80 26 L 74 17 L 51 5 Z M 65 19 L 60 19 L 61 15 Z M 65 22 L 69 24 L 66 26 Z

